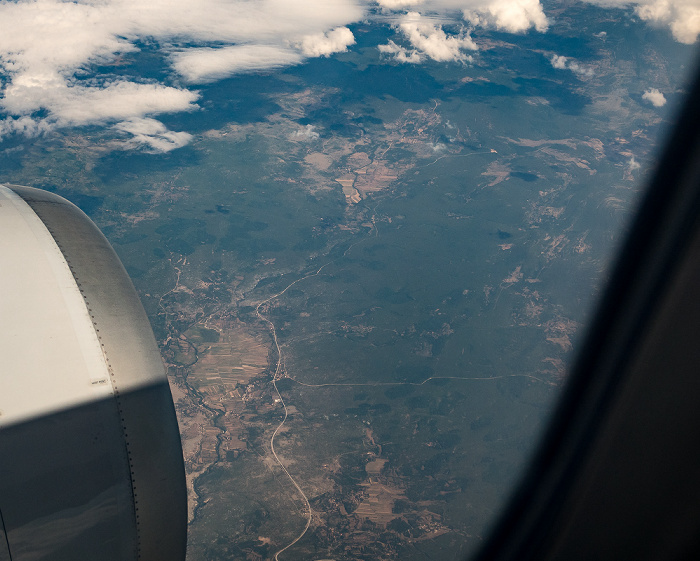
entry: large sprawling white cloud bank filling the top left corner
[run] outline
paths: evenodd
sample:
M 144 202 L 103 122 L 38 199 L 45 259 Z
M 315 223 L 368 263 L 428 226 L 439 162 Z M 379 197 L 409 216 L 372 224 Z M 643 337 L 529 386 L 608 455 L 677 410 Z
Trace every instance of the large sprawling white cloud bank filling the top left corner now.
M 198 94 L 138 77 L 85 79 L 96 65 L 137 51 L 144 39 L 170 52 L 189 82 L 298 64 L 347 48 L 354 38 L 342 26 L 365 11 L 363 0 L 0 0 L 0 135 L 127 123 L 118 129 L 136 144 L 171 149 L 186 137 L 160 131 L 146 142 L 133 123 L 190 110 Z

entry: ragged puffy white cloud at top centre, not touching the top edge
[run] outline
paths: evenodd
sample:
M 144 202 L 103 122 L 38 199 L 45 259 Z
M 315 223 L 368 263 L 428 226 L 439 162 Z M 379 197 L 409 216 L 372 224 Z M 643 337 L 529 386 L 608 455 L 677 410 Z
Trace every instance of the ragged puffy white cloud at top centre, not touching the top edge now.
M 431 23 L 417 12 L 409 12 L 403 16 L 397 24 L 398 30 L 406 37 L 414 47 L 414 51 L 407 51 L 391 42 L 381 45 L 380 51 L 395 54 L 396 60 L 401 62 L 418 62 L 423 55 L 438 62 L 470 61 L 463 49 L 478 50 L 476 43 L 464 30 L 458 35 L 447 35 L 439 25 Z

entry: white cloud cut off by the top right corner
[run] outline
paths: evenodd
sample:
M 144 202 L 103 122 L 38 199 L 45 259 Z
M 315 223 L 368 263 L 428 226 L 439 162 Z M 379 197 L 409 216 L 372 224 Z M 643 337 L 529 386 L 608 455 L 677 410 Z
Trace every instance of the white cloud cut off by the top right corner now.
M 603 7 L 634 7 L 644 21 L 666 26 L 680 43 L 691 45 L 700 35 L 698 0 L 586 0 Z

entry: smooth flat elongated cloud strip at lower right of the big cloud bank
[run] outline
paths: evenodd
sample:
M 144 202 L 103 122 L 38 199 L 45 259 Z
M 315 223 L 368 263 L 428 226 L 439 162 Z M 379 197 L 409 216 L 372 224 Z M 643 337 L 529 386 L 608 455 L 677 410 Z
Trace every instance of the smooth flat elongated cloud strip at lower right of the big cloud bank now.
M 241 72 L 299 64 L 303 58 L 300 53 L 289 47 L 275 45 L 193 48 L 172 55 L 175 71 L 188 82 L 199 84 Z

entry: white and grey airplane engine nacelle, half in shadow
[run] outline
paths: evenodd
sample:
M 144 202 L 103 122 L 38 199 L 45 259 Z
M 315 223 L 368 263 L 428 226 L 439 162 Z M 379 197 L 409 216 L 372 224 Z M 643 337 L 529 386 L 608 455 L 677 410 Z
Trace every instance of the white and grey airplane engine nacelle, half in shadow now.
M 175 410 L 136 291 L 82 211 L 0 185 L 0 561 L 182 561 Z

